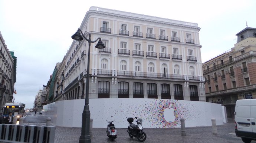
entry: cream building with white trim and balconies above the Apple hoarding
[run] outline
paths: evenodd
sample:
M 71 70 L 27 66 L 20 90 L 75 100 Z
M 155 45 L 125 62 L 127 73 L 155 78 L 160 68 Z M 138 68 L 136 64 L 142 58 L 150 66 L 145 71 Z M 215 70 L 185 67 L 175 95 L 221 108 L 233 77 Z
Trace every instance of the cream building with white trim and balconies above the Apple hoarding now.
M 91 7 L 80 29 L 106 46 L 91 44 L 89 98 L 205 101 L 198 24 Z M 85 98 L 87 61 L 88 41 L 74 41 L 56 100 Z

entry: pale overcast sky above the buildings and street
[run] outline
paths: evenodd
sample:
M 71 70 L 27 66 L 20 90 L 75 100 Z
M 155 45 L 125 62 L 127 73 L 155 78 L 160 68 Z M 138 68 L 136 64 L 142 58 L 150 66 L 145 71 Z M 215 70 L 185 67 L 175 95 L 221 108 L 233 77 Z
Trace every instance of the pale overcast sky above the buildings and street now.
M 91 6 L 195 22 L 201 28 L 203 62 L 234 47 L 246 21 L 256 28 L 255 0 L 0 0 L 0 31 L 17 57 L 17 102 L 33 108 Z

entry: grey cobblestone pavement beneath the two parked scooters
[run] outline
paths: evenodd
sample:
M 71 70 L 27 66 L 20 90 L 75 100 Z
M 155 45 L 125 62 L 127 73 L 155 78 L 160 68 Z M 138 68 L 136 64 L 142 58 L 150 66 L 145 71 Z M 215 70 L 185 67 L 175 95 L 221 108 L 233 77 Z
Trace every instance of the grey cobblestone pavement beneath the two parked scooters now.
M 186 126 L 186 125 L 185 125 Z M 127 129 L 116 129 L 117 138 L 108 140 L 105 128 L 93 128 L 91 143 L 140 143 L 132 139 Z M 143 129 L 147 139 L 143 143 L 243 143 L 234 133 L 234 122 L 229 120 L 224 125 L 217 126 L 217 134 L 212 133 L 211 126 L 186 128 L 186 136 L 181 136 L 180 128 Z M 55 143 L 78 143 L 81 128 L 66 128 L 56 126 Z M 256 141 L 252 141 L 256 143 Z

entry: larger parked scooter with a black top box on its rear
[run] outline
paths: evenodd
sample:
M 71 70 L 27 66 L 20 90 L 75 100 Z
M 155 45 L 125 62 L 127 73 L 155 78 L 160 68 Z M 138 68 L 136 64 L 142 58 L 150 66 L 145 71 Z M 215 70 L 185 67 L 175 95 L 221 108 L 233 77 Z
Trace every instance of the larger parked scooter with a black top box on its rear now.
M 137 119 L 137 117 L 135 117 Z M 129 117 L 127 118 L 127 121 L 129 122 L 128 130 L 127 132 L 129 133 L 129 137 L 135 137 L 137 138 L 140 142 L 144 142 L 147 138 L 146 133 L 144 133 L 142 130 L 142 119 L 139 118 L 137 119 L 137 125 L 135 125 L 133 122 L 133 118 Z

